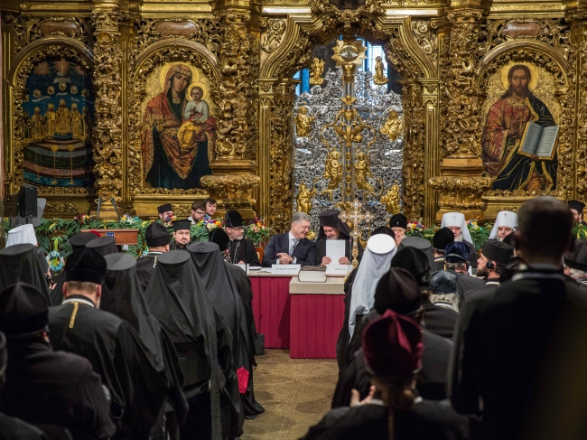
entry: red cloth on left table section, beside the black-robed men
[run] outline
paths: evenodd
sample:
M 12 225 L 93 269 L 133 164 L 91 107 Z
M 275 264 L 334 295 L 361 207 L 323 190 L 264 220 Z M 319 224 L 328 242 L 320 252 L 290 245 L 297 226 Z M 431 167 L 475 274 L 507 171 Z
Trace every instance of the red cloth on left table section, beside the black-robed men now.
M 267 349 L 290 346 L 291 276 L 251 276 L 256 332 L 265 334 Z

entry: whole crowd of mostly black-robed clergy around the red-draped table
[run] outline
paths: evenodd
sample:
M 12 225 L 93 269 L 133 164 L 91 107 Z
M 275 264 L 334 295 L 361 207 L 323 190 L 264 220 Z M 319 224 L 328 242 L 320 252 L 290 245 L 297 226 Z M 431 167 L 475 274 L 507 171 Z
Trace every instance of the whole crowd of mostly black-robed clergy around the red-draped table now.
M 191 242 L 216 201 L 194 202 L 188 220 L 165 204 L 143 256 L 81 232 L 57 276 L 33 226 L 11 229 L 0 249 L 0 440 L 237 439 L 264 412 L 251 283 L 237 265 L 353 257 L 331 410 L 303 439 L 587 438 L 587 243 L 572 234 L 583 208 L 537 197 L 500 211 L 479 251 L 459 212 L 443 215 L 432 243 L 406 237 L 398 213 L 355 256 L 339 211 L 321 212 L 315 241 L 296 212 L 259 261 L 238 211 Z M 329 240 L 344 241 L 338 261 Z

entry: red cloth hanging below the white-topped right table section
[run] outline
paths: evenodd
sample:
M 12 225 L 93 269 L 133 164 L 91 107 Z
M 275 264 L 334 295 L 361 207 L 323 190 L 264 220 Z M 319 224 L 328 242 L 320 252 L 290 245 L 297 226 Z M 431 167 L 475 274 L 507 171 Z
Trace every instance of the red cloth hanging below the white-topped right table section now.
M 290 358 L 336 358 L 344 295 L 291 295 Z

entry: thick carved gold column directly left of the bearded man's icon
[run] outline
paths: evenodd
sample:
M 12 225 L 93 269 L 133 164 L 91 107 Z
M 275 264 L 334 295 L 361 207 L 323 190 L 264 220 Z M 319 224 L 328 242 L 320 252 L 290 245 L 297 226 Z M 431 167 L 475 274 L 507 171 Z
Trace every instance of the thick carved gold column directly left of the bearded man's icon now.
M 481 196 L 489 190 L 491 181 L 481 176 L 483 164 L 476 140 L 480 108 L 475 67 L 482 16 L 480 1 L 476 0 L 453 0 L 447 14 L 452 27 L 450 44 L 442 52 L 441 175 L 429 181 L 440 194 L 436 220 L 450 211 L 460 211 L 467 219 L 483 220 Z

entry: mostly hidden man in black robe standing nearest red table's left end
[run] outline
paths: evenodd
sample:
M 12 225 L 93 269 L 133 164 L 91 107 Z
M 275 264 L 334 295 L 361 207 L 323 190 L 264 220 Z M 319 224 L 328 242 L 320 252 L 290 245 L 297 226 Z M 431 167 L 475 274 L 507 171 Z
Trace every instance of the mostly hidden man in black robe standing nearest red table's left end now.
M 216 243 L 220 252 L 224 257 L 228 257 L 228 234 L 223 229 L 214 229 L 210 231 L 209 241 Z M 255 390 L 253 389 L 253 367 L 256 367 L 255 361 L 255 341 L 256 341 L 256 325 L 255 315 L 253 314 L 253 289 L 251 288 L 251 280 L 247 274 L 240 267 L 234 266 L 227 261 L 226 265 L 228 273 L 232 276 L 235 285 L 237 286 L 238 295 L 245 307 L 245 314 L 247 316 L 247 353 L 248 353 L 248 365 L 245 366 L 249 372 L 247 392 L 242 395 L 243 407 L 245 410 L 245 418 L 252 419 L 257 417 L 259 414 L 265 412 L 265 408 L 262 407 L 255 399 Z

